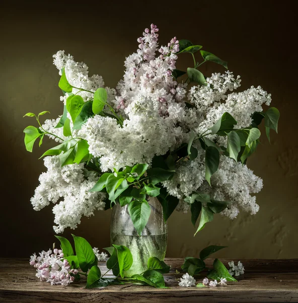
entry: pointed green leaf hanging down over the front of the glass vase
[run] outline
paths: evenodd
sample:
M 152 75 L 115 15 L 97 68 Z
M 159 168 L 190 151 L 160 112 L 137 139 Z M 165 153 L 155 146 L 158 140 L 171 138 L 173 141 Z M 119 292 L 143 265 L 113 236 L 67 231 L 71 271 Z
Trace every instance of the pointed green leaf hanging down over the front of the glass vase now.
M 146 200 L 134 200 L 129 203 L 128 212 L 134 228 L 136 229 L 138 235 L 141 235 L 142 230 L 147 224 L 151 214 L 150 205 Z

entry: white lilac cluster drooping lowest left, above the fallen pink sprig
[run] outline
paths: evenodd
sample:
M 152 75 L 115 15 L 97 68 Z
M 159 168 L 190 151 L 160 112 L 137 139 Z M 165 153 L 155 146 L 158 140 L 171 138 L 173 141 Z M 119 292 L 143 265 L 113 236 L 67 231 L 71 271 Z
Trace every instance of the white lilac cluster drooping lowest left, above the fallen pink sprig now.
M 36 211 L 49 205 L 50 201 L 56 204 L 53 207 L 55 232 L 63 232 L 66 227 L 75 229 L 83 215 L 90 217 L 95 210 L 104 209 L 105 193 L 89 191 L 98 178 L 92 173 L 85 177 L 83 163 L 61 167 L 59 157 L 51 156 L 44 158 L 44 165 L 47 172 L 39 176 L 40 184 L 31 203 Z

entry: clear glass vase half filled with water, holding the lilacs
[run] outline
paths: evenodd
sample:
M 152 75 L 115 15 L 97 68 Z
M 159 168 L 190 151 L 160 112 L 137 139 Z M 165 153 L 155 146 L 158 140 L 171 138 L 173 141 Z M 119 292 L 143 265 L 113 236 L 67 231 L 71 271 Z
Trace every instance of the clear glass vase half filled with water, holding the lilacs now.
M 144 272 L 150 257 L 164 260 L 166 256 L 168 227 L 164 222 L 162 206 L 155 197 L 149 197 L 147 201 L 151 215 L 140 236 L 130 219 L 128 205 L 121 207 L 117 203 L 112 209 L 111 244 L 128 247 L 133 258 L 133 264 L 126 272 L 127 277 Z

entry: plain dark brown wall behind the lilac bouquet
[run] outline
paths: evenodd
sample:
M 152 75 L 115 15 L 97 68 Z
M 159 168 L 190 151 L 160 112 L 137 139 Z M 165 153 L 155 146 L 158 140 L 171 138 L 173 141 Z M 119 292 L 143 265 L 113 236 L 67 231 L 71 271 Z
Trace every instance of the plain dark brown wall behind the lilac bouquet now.
M 88 5 L 86 5 L 88 3 Z M 33 122 L 27 112 L 62 113 L 57 86 L 59 76 L 52 55 L 65 49 L 84 61 L 90 73 L 115 86 L 123 75 L 126 56 L 136 51 L 136 38 L 145 27 L 160 28 L 160 42 L 173 36 L 187 38 L 228 61 L 242 76 L 242 88 L 261 85 L 272 94 L 280 110 L 278 135 L 263 144 L 248 162 L 264 179 L 258 194 L 259 213 L 220 218 L 195 238 L 189 214 L 175 213 L 169 220 L 168 257 L 196 255 L 208 244 L 228 245 L 221 258 L 297 258 L 298 141 L 296 14 L 290 2 L 180 1 L 171 2 L 43 2 L 1 4 L 1 256 L 28 257 L 54 241 L 51 207 L 35 212 L 30 197 L 44 171 L 42 152 L 53 145 L 44 140 L 32 154 L 25 150 L 23 129 Z M 178 67 L 192 64 L 182 54 Z M 223 71 L 206 65 L 203 72 Z M 83 218 L 75 234 L 92 245 L 109 245 L 110 211 Z M 73 231 L 72 231 L 73 232 Z M 64 233 L 70 236 L 70 230 Z

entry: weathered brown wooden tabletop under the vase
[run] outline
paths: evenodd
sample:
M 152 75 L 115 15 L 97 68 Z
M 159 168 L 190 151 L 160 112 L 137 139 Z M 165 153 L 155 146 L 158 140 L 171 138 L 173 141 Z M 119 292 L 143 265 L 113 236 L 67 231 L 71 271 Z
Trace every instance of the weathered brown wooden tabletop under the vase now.
M 211 259 L 206 260 L 211 266 Z M 225 265 L 231 260 L 221 260 Z M 24 259 L 0 259 L 0 302 L 298 302 L 298 259 L 242 260 L 245 274 L 227 286 L 180 287 L 183 259 L 166 259 L 171 272 L 165 275 L 168 289 L 145 285 L 111 285 L 85 289 L 85 282 L 67 287 L 51 286 L 35 277 L 35 269 Z M 100 264 L 106 271 L 105 263 Z M 205 273 L 196 279 L 201 282 Z

